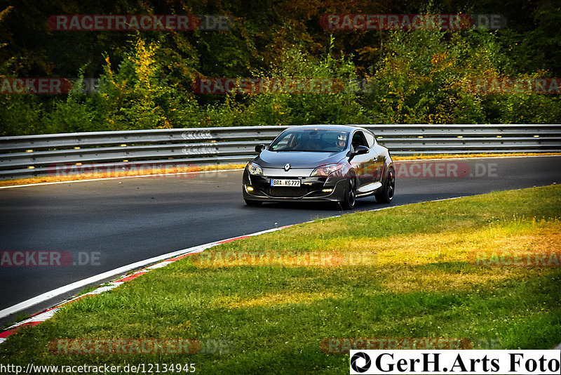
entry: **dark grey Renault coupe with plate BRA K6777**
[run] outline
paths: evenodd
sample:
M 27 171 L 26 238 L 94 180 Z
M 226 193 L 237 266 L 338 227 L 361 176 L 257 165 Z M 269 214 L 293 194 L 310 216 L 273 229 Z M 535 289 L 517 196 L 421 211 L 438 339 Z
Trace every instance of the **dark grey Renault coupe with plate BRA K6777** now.
M 338 202 L 353 209 L 356 198 L 374 195 L 389 203 L 396 171 L 386 147 L 357 126 L 292 126 L 269 146 L 257 145 L 259 156 L 243 171 L 243 199 L 263 202 Z

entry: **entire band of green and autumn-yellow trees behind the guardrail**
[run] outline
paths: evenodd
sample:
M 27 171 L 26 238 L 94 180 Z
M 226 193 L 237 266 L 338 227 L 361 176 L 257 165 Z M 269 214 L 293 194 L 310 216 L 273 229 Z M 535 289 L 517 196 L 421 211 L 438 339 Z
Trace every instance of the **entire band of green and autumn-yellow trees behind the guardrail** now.
M 199 126 L 377 123 L 559 123 L 559 95 L 478 93 L 477 79 L 561 77 L 560 1 L 450 1 L 357 10 L 334 3 L 252 4 L 117 0 L 102 5 L 32 0 L 0 6 L 2 77 L 99 77 L 96 91 L 0 95 L 0 136 Z M 100 8 L 101 7 L 101 8 Z M 524 19 L 510 8 L 523 8 Z M 355 30 L 327 34 L 326 13 L 503 13 L 508 27 L 461 31 Z M 372 13 L 371 12 L 371 13 Z M 220 32 L 60 32 L 53 14 L 217 14 Z M 341 79 L 333 93 L 213 94 L 191 91 L 199 77 Z M 353 80 L 370 91 L 354 91 Z

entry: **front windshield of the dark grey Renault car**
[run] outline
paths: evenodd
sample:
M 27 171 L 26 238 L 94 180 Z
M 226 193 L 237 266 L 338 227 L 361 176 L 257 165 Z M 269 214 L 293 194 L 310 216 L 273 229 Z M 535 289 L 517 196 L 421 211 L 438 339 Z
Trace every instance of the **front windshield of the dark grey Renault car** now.
M 349 132 L 323 129 L 290 129 L 278 136 L 269 151 L 341 152 Z

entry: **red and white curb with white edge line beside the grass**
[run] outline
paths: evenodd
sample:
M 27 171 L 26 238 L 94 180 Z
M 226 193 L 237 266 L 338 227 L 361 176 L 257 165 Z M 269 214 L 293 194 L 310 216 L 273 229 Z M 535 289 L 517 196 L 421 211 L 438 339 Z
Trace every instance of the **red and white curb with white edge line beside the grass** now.
M 150 272 L 151 270 L 156 270 L 157 268 L 165 267 L 166 265 L 169 265 L 169 264 L 171 264 L 175 261 L 179 261 L 181 258 L 184 258 L 184 257 L 189 256 L 191 254 L 200 253 L 201 251 L 204 251 L 205 249 L 209 249 L 210 247 L 217 246 L 219 244 L 225 244 L 227 242 L 236 241 L 236 239 L 243 239 L 243 238 L 248 238 L 248 237 L 252 237 L 252 236 L 262 235 L 264 233 L 275 232 L 276 230 L 289 228 L 291 226 L 292 225 L 285 225 L 285 226 L 279 227 L 279 228 L 273 228 L 273 229 L 269 229 L 269 230 L 262 230 L 261 232 L 251 233 L 250 235 L 243 235 L 243 236 L 232 237 L 232 238 L 228 238 L 228 239 L 221 239 L 221 240 L 216 241 L 216 242 L 210 242 L 208 244 L 202 244 L 202 245 L 198 245 L 198 246 L 194 246 L 194 247 L 189 247 L 188 249 L 182 249 L 182 250 L 179 250 L 179 251 L 174 251 L 173 253 L 163 254 L 163 255 L 158 256 L 158 257 L 149 258 L 146 261 L 132 263 L 130 265 L 125 265 L 123 267 L 116 268 L 115 270 L 104 272 L 104 273 L 102 273 L 100 275 L 96 275 L 94 277 L 88 277 L 88 279 L 83 279 L 80 282 L 69 284 L 65 287 L 61 287 L 61 288 L 55 289 L 53 291 L 49 291 L 47 293 L 41 294 L 40 296 L 36 296 L 36 297 L 31 298 L 27 301 L 24 301 L 22 303 L 18 303 L 18 305 L 14 305 L 11 308 L 6 308 L 4 310 L 0 310 L 0 317 L 5 317 L 5 316 L 11 315 L 13 313 L 18 313 L 18 311 L 21 311 L 21 310 L 23 310 L 23 309 L 25 309 L 29 306 L 36 305 L 37 303 L 41 303 L 42 301 L 47 301 L 48 299 L 53 298 L 53 296 L 60 295 L 60 294 L 65 292 L 65 289 L 73 290 L 73 289 L 76 289 L 77 287 L 85 287 L 86 285 L 90 284 L 91 282 L 94 282 L 93 280 L 95 280 L 95 279 L 106 279 L 107 277 L 110 277 L 110 275 L 119 275 L 120 273 L 125 272 L 126 270 L 131 270 L 131 269 L 135 269 L 135 268 L 138 268 L 138 267 L 142 267 L 142 265 L 158 262 L 158 263 L 150 265 L 148 267 L 141 268 L 140 270 L 137 270 L 130 275 L 121 276 L 121 277 L 119 277 L 119 279 L 116 279 L 116 280 L 113 280 L 113 281 L 111 281 L 107 284 L 104 284 L 102 287 L 98 287 L 97 289 L 95 289 L 93 291 L 90 291 L 86 294 L 81 294 L 79 296 L 74 296 L 72 298 L 69 298 L 65 301 L 62 301 L 61 303 L 58 303 L 58 305 L 55 305 L 53 308 L 48 308 L 46 310 L 43 310 L 41 313 L 36 313 L 36 314 L 32 315 L 31 317 L 29 317 L 29 319 L 22 320 L 21 322 L 13 324 L 11 327 L 8 327 L 5 331 L 0 332 L 0 344 L 4 343 L 4 341 L 7 340 L 8 336 L 11 336 L 11 335 L 15 334 L 20 329 L 22 329 L 24 327 L 34 326 L 36 324 L 39 324 L 41 322 L 45 322 L 46 320 L 50 319 L 51 317 L 53 317 L 53 315 L 55 315 L 55 313 L 58 310 L 60 310 L 60 308 L 62 308 L 62 306 L 67 305 L 68 303 L 72 303 L 76 300 L 79 300 L 79 299 L 87 297 L 87 296 L 95 296 L 97 294 L 102 294 L 104 291 L 109 291 L 111 289 L 115 289 L 116 287 L 119 287 L 120 285 L 122 285 L 124 282 L 129 282 L 130 280 L 136 279 L 137 277 L 142 276 L 145 273 Z M 144 263 L 144 264 L 142 264 L 142 263 Z

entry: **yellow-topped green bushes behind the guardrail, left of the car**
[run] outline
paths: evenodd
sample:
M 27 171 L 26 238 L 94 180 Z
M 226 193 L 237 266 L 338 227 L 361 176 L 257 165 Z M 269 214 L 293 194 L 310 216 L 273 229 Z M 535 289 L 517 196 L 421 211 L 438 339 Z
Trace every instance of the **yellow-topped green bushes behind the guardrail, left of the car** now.
M 169 82 L 153 42 L 146 46 L 137 39 L 114 70 L 105 57 L 104 74 L 94 93 L 74 85 L 66 100 L 55 102 L 45 121 L 51 131 L 100 131 L 163 129 L 194 126 L 196 103 Z

